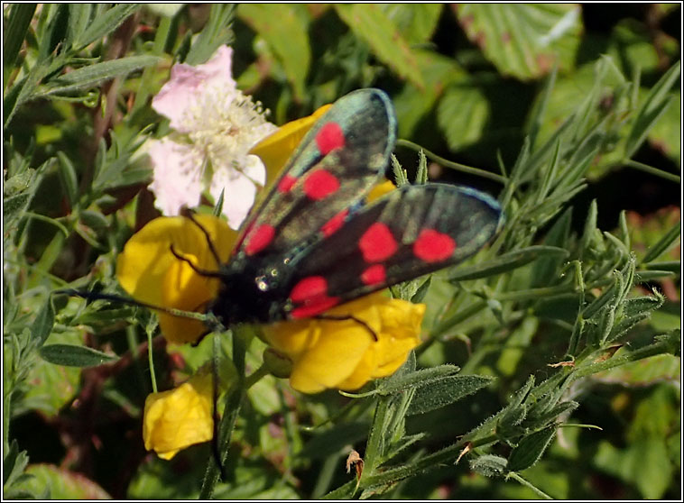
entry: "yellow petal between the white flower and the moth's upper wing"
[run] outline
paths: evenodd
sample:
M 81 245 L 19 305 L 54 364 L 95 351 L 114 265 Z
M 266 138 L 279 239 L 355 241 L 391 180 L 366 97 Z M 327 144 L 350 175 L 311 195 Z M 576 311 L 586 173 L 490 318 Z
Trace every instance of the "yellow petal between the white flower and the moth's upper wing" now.
M 297 145 L 300 144 L 301 139 L 319 117 L 326 112 L 331 105 L 323 105 L 316 112 L 310 114 L 308 117 L 302 117 L 296 121 L 283 124 L 275 133 L 267 136 L 261 142 L 258 142 L 249 153 L 257 155 L 266 166 L 266 179 L 272 182 L 278 178 L 285 162 L 290 159 L 290 156 Z

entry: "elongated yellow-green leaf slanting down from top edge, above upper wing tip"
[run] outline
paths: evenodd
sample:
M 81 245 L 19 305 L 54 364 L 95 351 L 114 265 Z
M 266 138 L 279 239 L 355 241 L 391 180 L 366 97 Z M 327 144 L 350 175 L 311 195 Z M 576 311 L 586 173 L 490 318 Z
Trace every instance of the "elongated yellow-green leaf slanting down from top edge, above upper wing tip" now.
M 415 56 L 402 32 L 375 4 L 335 4 L 339 17 L 356 37 L 365 41 L 397 75 L 421 89 L 424 87 Z

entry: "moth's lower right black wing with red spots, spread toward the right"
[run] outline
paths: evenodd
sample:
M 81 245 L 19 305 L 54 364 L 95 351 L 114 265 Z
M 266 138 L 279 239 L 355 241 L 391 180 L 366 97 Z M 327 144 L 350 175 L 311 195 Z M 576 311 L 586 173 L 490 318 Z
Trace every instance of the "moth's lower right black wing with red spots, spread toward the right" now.
M 463 261 L 495 235 L 500 219 L 498 203 L 472 188 L 398 188 L 294 258 L 288 316 L 315 316 Z

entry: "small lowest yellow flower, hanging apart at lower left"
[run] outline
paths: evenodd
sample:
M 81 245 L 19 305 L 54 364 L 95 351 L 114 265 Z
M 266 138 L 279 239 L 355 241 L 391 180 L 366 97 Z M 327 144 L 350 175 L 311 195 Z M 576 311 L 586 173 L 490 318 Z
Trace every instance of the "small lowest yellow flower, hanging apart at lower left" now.
M 181 449 L 214 436 L 212 375 L 200 373 L 178 388 L 152 393 L 145 399 L 145 449 L 170 460 Z

